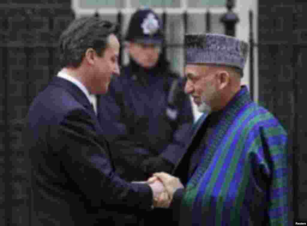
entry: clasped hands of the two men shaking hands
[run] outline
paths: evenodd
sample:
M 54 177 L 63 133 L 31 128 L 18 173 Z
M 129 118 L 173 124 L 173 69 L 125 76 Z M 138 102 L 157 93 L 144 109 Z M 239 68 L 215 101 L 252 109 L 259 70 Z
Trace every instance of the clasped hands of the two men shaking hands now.
M 178 188 L 184 188 L 177 177 L 165 172 L 154 173 L 146 183 L 153 191 L 153 207 L 169 208 Z

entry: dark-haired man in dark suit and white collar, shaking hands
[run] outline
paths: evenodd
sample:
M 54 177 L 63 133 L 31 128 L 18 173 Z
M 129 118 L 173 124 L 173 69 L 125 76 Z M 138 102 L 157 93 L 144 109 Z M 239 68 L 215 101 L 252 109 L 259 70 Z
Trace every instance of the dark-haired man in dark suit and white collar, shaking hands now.
M 60 36 L 62 69 L 31 104 L 26 146 L 32 165 L 31 226 L 108 225 L 110 212 L 151 209 L 164 191 L 128 183 L 113 171 L 111 151 L 92 94 L 119 75 L 115 26 L 100 18 L 73 21 Z

